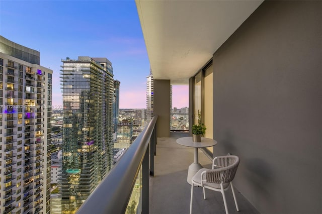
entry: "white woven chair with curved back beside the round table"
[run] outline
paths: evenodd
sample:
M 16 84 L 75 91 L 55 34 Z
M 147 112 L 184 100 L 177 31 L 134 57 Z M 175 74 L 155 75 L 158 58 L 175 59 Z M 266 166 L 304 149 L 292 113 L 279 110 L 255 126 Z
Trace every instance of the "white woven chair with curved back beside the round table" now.
M 232 180 L 236 174 L 238 164 L 239 164 L 239 157 L 234 155 L 215 157 L 212 162 L 212 169 L 205 169 L 205 168 L 200 169 L 192 177 L 190 214 L 192 213 L 192 198 L 193 198 L 194 185 L 201 186 L 203 188 L 204 199 L 206 199 L 205 188 L 221 192 L 223 203 L 225 205 L 225 210 L 227 214 L 228 214 L 228 209 L 227 209 L 227 202 L 226 202 L 224 191 L 227 190 L 230 186 L 233 199 L 235 201 L 236 209 L 237 211 L 239 211 L 235 192 L 232 186 Z

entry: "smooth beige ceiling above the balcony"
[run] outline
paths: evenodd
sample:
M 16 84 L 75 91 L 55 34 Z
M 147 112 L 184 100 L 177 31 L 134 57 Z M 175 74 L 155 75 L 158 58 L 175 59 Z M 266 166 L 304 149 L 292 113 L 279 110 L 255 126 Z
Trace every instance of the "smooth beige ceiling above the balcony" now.
M 188 84 L 262 2 L 136 0 L 153 78 Z

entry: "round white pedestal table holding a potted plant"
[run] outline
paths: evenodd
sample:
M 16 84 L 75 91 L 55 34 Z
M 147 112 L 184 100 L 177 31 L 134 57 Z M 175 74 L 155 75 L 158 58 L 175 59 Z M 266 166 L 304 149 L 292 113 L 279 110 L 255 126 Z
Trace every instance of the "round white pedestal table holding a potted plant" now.
M 184 137 L 177 139 L 177 143 L 182 146 L 195 148 L 194 162 L 190 164 L 187 176 L 187 182 L 191 184 L 191 178 L 198 172 L 199 169 L 203 168 L 198 162 L 198 148 L 214 146 L 217 144 L 217 141 L 210 138 L 201 138 L 201 142 L 193 142 L 192 137 Z

